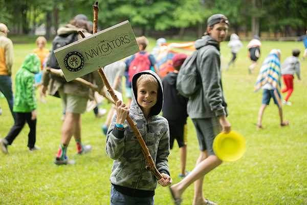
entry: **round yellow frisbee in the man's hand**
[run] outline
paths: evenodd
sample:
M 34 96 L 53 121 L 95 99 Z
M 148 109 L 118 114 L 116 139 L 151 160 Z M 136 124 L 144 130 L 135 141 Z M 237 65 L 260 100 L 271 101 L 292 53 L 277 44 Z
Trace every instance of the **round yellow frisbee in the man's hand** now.
M 246 151 L 245 138 L 236 131 L 228 134 L 221 132 L 213 141 L 213 151 L 223 161 L 236 161 L 243 157 Z

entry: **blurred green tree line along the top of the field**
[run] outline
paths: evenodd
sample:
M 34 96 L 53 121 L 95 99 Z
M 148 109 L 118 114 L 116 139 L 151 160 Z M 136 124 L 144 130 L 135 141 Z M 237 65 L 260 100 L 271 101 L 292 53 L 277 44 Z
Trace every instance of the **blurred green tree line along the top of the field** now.
M 124 20 L 133 28 L 146 31 L 176 29 L 179 35 L 186 28 L 202 35 L 209 16 L 225 14 L 234 32 L 299 36 L 307 28 L 307 0 L 100 0 L 98 25 L 104 29 Z M 0 22 L 12 34 L 28 34 L 41 25 L 51 28 L 67 24 L 75 15 L 85 14 L 93 21 L 93 4 L 88 0 L 0 0 Z M 149 33 L 150 35 L 150 33 Z

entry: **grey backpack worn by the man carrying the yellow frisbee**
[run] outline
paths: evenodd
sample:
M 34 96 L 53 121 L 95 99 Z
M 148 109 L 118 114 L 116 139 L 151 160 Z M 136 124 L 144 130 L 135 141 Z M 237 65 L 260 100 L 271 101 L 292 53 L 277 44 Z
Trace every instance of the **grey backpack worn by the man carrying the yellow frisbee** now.
M 198 53 L 199 50 L 196 50 L 185 59 L 177 76 L 177 91 L 187 98 L 201 87 L 201 77 L 196 65 Z

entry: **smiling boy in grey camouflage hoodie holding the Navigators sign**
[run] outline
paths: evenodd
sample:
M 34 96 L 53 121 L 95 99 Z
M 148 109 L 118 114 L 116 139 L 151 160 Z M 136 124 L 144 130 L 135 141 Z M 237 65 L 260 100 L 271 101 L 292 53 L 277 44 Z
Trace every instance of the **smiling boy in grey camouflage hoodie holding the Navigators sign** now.
M 111 205 L 153 205 L 157 179 L 145 169 L 147 162 L 135 133 L 128 125 L 129 114 L 139 129 L 149 153 L 163 178 L 161 186 L 172 183 L 168 170 L 169 129 L 159 113 L 163 107 L 163 89 L 159 76 L 150 70 L 132 78 L 131 106 L 118 100 L 116 113 L 106 134 L 106 153 L 114 160 L 110 181 Z

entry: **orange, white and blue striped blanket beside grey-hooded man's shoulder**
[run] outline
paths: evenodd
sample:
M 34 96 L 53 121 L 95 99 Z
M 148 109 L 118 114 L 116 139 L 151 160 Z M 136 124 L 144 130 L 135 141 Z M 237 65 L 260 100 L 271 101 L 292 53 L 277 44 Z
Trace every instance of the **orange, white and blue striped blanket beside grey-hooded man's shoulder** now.
M 195 51 L 195 42 L 185 43 L 167 43 L 162 44 L 157 57 L 157 67 L 163 78 L 168 72 L 174 70 L 172 67 L 172 58 L 176 53 L 185 53 L 191 55 Z

